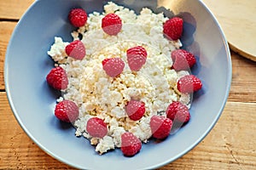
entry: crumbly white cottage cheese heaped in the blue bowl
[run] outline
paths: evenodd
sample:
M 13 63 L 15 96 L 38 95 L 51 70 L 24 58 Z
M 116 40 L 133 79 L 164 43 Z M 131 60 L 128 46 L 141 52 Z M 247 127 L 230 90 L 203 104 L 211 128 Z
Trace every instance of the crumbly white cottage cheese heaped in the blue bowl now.
M 102 18 L 109 13 L 118 14 L 123 21 L 117 36 L 108 36 L 102 31 Z M 164 14 L 154 14 L 149 8 L 143 8 L 137 15 L 133 10 L 108 3 L 103 14 L 89 14 L 87 24 L 72 32 L 74 40 L 82 35 L 81 41 L 86 48 L 83 60 L 68 57 L 65 47 L 69 42 L 55 37 L 48 54 L 56 65 L 67 71 L 69 81 L 58 101 L 71 99 L 79 105 L 79 118 L 74 122 L 75 134 L 90 139 L 90 144 L 95 144 L 100 154 L 120 147 L 120 136 L 126 131 L 147 143 L 152 135 L 150 117 L 166 116 L 166 108 L 172 101 L 181 101 L 189 107 L 189 95 L 177 91 L 177 79 L 189 72 L 171 69 L 171 52 L 182 44 L 163 36 L 162 26 L 166 20 Z M 148 58 L 143 68 L 134 73 L 127 65 L 126 50 L 137 45 L 146 48 Z M 125 61 L 119 77 L 108 77 L 102 70 L 102 60 L 110 57 Z M 125 113 L 125 105 L 131 98 L 145 103 L 146 113 L 139 121 L 131 121 Z M 92 138 L 86 132 L 86 123 L 92 116 L 102 118 L 108 124 L 108 135 L 103 139 Z

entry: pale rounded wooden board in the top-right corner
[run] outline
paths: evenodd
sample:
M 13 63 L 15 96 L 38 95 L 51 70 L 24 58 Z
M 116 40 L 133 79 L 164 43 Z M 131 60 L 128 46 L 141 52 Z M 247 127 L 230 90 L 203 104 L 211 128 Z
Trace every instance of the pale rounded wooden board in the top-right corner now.
M 202 0 L 216 16 L 230 48 L 256 61 L 256 0 Z

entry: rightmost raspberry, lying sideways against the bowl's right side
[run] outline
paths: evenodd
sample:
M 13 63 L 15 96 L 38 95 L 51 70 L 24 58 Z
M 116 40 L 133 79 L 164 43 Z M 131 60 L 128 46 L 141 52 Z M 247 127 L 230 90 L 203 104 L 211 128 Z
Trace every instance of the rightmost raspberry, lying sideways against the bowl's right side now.
M 195 91 L 200 90 L 202 87 L 201 80 L 198 77 L 195 77 L 194 75 L 187 75 L 184 77 L 181 77 L 177 81 L 177 90 L 181 93 L 193 93 Z

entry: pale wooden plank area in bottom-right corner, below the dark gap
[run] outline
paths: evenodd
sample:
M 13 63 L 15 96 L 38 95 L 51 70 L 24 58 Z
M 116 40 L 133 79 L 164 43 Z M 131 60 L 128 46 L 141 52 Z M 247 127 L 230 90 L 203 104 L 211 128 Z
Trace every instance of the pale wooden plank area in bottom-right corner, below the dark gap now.
M 194 150 L 166 169 L 255 169 L 254 103 L 228 102 L 212 132 Z

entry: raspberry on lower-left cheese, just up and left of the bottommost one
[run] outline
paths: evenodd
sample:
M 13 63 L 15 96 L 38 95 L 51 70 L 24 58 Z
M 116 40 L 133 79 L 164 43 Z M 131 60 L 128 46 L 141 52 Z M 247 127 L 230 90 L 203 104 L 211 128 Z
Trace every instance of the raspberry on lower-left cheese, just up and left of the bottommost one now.
M 108 127 L 102 119 L 91 117 L 86 124 L 86 131 L 92 137 L 103 138 L 108 133 Z

